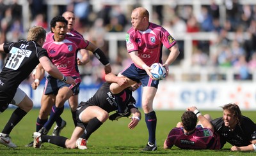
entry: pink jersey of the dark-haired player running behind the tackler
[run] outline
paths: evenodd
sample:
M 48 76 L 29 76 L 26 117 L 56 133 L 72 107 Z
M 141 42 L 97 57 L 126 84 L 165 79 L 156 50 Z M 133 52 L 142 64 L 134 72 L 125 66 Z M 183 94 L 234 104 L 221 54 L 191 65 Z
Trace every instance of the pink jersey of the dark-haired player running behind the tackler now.
M 61 42 L 53 39 L 53 33 L 47 34 L 43 48 L 48 52 L 52 63 L 65 76 L 80 76 L 77 68 L 77 51 L 86 48 L 89 42 L 80 36 L 67 34 Z

